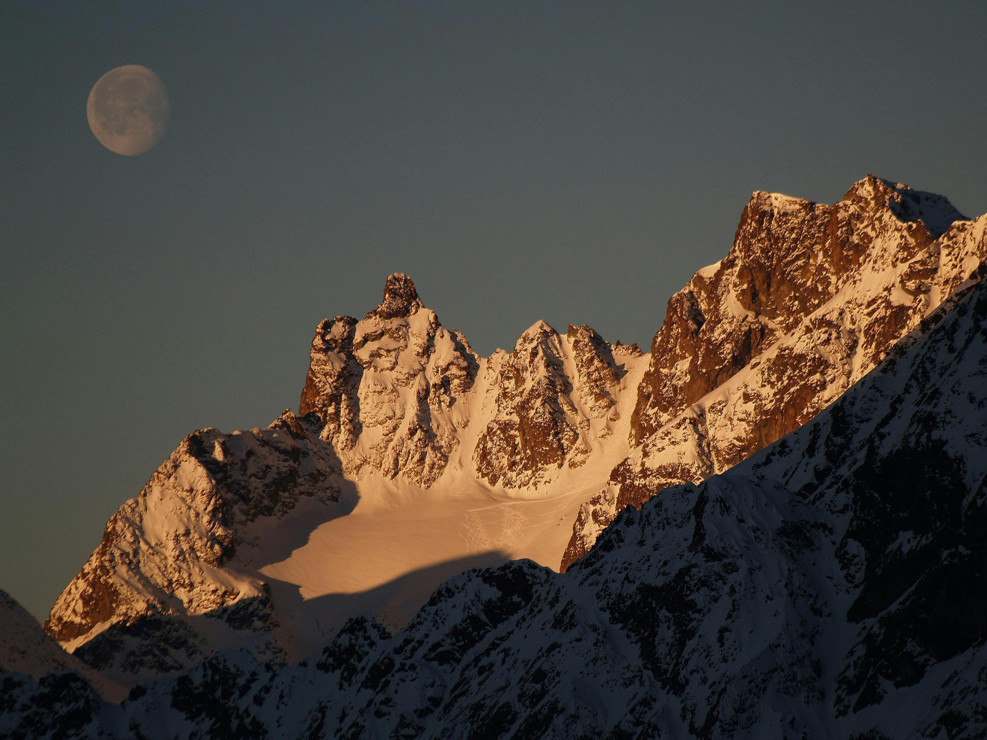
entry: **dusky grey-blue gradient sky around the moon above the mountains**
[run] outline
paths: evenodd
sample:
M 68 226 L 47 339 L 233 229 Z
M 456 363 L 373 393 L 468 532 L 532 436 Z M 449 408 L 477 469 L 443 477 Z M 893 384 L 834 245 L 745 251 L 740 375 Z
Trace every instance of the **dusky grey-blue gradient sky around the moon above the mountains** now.
M 43 619 L 192 429 L 297 408 L 408 272 L 489 354 L 648 345 L 755 189 L 987 211 L 987 4 L 0 4 L 0 588 Z M 86 99 L 142 64 L 161 143 Z

